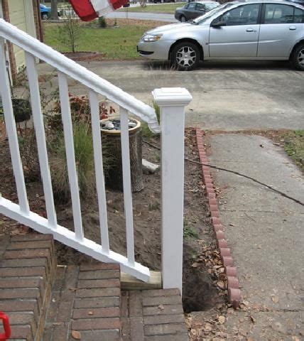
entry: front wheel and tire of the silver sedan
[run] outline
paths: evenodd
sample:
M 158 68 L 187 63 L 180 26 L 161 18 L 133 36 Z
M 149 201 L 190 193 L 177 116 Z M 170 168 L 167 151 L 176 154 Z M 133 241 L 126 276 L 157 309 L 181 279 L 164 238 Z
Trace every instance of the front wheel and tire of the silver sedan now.
M 176 70 L 193 70 L 200 63 L 200 49 L 194 43 L 185 41 L 174 46 L 170 61 Z

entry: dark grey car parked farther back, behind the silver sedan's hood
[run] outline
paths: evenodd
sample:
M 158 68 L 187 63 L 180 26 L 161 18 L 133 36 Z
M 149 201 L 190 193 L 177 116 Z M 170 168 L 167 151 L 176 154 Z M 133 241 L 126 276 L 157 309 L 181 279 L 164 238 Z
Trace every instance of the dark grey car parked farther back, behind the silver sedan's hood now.
M 217 6 L 219 6 L 219 3 L 216 1 L 189 2 L 188 4 L 185 4 L 185 6 L 178 7 L 175 10 L 175 19 L 185 23 L 185 21 L 204 15 L 212 9 L 215 9 Z

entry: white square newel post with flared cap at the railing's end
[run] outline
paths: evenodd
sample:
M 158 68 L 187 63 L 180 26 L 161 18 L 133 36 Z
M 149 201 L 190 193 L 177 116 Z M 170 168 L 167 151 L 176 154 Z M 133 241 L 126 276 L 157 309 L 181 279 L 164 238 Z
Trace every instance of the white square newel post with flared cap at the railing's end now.
M 180 87 L 153 90 L 161 111 L 161 217 L 163 288 L 183 287 L 183 202 L 185 106 Z

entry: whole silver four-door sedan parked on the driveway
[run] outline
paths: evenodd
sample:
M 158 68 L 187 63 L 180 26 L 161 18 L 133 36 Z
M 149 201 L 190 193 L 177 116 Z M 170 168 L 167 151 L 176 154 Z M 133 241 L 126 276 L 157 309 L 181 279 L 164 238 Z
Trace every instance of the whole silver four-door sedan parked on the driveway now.
M 229 2 L 192 23 L 146 32 L 139 55 L 192 70 L 200 60 L 291 60 L 304 70 L 304 6 L 288 1 Z

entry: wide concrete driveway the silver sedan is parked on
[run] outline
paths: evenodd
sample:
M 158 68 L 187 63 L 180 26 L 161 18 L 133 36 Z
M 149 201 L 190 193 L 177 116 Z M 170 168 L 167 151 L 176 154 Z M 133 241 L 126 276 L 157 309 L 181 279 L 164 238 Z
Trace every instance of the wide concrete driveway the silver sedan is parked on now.
M 186 87 L 193 100 L 187 126 L 213 130 L 304 129 L 304 72 L 288 63 L 205 62 L 191 72 L 170 70 L 168 63 L 145 60 L 90 62 L 82 65 L 152 104 L 156 87 Z M 39 65 L 40 74 L 50 72 Z M 70 91 L 83 87 L 70 82 Z

